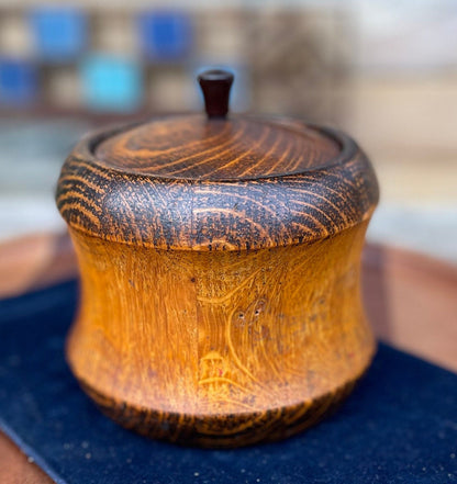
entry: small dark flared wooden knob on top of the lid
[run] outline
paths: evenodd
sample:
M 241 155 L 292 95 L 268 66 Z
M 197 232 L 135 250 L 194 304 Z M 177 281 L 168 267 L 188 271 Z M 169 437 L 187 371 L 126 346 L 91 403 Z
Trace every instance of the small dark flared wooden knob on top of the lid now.
M 227 70 L 205 70 L 199 77 L 208 117 L 225 117 L 228 112 L 230 88 L 233 74 Z

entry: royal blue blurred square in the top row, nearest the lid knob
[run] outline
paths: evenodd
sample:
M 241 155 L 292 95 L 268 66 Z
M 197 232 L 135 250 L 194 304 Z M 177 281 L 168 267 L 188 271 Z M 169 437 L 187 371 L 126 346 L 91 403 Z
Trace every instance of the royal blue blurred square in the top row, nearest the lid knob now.
M 192 47 L 192 22 L 185 12 L 157 11 L 138 16 L 143 54 L 152 59 L 185 59 Z

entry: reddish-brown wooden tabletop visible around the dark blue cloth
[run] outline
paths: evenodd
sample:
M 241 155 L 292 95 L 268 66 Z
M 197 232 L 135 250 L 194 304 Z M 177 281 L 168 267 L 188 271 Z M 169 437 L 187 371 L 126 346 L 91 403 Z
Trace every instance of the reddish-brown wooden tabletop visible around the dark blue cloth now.
M 0 245 L 0 281 L 11 281 L 0 285 L 0 297 L 19 295 L 76 274 L 68 236 L 47 234 Z M 456 267 L 402 249 L 367 245 L 363 280 L 365 305 L 378 337 L 457 371 Z M 52 481 L 0 435 L 0 482 Z

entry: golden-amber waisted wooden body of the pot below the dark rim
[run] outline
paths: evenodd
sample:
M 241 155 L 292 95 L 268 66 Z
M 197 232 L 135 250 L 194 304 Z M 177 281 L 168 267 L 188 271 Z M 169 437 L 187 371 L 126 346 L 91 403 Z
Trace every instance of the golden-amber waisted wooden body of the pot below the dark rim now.
M 313 402 L 333 405 L 372 356 L 358 291 L 365 226 L 250 252 L 164 251 L 74 230 L 82 274 L 67 348 L 74 373 L 153 437 L 248 443 L 266 437 L 258 419 L 278 419 L 279 432 L 285 414 L 300 429 L 322 409 Z M 133 408 L 144 419 L 127 418 Z M 172 415 L 180 429 L 164 432 Z M 204 423 L 207 436 L 194 427 Z

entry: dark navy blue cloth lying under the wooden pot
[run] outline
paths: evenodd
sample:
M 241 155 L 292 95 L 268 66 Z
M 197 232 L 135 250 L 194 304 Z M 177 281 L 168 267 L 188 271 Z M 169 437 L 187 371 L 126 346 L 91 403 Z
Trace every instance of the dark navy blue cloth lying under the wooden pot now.
M 338 413 L 287 441 L 199 450 L 103 417 L 63 356 L 76 283 L 0 302 L 0 428 L 57 483 L 457 481 L 457 375 L 380 346 Z

